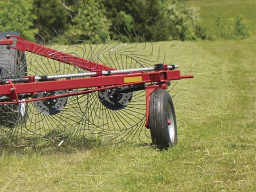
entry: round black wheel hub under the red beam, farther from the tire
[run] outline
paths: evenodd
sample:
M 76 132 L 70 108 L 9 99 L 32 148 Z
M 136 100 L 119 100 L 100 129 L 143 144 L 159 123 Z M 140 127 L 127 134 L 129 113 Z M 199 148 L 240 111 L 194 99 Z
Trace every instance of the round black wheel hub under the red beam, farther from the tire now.
M 45 97 L 51 97 L 58 94 L 67 93 L 66 90 L 60 90 L 60 91 L 44 91 L 39 92 L 36 95 L 36 98 L 45 98 Z M 63 98 L 52 98 L 52 99 L 44 99 L 39 101 L 33 101 L 36 109 L 45 115 L 55 115 L 57 113 L 60 113 L 60 111 L 66 106 L 68 101 L 67 97 Z

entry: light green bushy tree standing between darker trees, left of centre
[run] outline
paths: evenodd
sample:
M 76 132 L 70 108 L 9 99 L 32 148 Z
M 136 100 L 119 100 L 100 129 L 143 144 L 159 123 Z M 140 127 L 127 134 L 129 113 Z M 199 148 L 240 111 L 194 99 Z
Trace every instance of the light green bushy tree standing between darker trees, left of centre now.
M 70 38 L 90 39 L 92 43 L 105 42 L 109 39 L 110 21 L 106 18 L 105 9 L 99 1 L 78 0 L 71 9 L 74 10 L 74 18 L 67 31 Z

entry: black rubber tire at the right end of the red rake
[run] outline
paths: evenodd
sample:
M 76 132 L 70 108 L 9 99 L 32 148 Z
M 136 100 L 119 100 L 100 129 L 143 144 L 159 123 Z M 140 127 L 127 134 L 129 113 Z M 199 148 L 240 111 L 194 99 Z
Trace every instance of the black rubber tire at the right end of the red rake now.
M 168 107 L 171 107 L 171 115 Z M 174 125 L 173 141 L 171 141 L 168 120 L 171 120 L 171 125 Z M 149 103 L 149 129 L 153 146 L 158 149 L 168 149 L 173 145 L 177 145 L 177 122 L 175 110 L 170 94 L 165 90 L 155 90 L 150 95 Z

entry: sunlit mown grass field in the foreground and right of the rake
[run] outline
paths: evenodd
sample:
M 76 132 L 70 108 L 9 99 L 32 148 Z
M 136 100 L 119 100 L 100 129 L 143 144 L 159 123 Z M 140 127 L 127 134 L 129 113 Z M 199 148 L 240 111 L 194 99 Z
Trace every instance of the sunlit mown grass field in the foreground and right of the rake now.
M 1 147 L 0 191 L 255 191 L 255 38 L 154 46 L 195 75 L 172 91 L 178 146 Z

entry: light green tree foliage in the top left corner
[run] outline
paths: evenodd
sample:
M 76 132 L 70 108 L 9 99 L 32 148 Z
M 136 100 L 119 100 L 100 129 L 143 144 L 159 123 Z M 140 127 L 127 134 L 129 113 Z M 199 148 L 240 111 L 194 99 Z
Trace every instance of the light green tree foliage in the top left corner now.
M 32 10 L 32 0 L 0 1 L 0 31 L 15 31 L 34 37 L 36 15 L 31 13 Z

